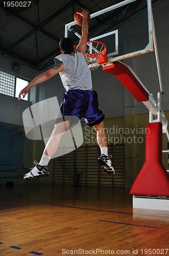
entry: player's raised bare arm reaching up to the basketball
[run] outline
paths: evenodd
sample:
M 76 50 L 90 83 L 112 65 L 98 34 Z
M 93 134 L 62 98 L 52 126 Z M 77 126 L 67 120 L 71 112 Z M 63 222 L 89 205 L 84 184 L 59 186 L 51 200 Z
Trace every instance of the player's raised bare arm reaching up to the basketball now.
M 88 26 L 89 11 L 86 10 L 85 8 L 81 8 L 81 12 L 77 12 L 77 13 L 82 16 L 82 28 L 81 28 L 81 38 L 79 40 L 79 45 L 76 49 L 78 52 L 81 52 L 83 55 L 85 55 L 87 40 L 88 40 L 88 32 L 89 32 L 89 26 Z

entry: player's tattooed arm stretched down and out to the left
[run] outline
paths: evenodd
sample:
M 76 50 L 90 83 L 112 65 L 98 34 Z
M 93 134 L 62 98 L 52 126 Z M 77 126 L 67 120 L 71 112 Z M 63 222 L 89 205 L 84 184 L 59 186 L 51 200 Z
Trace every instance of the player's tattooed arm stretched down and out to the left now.
M 57 60 L 52 68 L 35 77 L 29 84 L 27 84 L 25 88 L 20 91 L 18 100 L 20 100 L 21 97 L 24 99 L 26 94 L 29 93 L 31 87 L 49 80 L 51 77 L 62 71 L 64 71 L 64 63 L 61 60 Z

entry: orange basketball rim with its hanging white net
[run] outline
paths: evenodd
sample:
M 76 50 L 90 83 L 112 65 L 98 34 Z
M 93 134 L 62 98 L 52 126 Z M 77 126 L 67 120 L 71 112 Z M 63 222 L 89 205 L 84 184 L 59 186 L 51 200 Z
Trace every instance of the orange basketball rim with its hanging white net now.
M 86 50 L 86 61 L 90 70 L 99 67 L 99 60 L 106 53 L 106 46 L 99 41 L 88 41 Z

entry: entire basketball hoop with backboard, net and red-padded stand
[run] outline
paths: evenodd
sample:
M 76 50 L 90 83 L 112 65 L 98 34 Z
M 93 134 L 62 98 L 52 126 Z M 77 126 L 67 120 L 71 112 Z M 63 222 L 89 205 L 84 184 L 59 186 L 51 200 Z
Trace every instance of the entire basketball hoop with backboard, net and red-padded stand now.
M 121 3 L 118 3 L 114 6 L 110 6 L 109 8 L 105 8 L 100 10 L 99 12 L 91 14 L 92 17 L 96 17 L 98 15 L 103 15 L 106 12 L 112 12 L 124 6 L 126 7 L 128 4 L 132 2 L 136 2 L 137 0 L 125 0 Z M 140 5 L 144 5 L 145 1 L 142 0 Z M 89 68 L 94 70 L 102 65 L 102 69 L 105 72 L 108 72 L 119 79 L 122 84 L 126 87 L 126 89 L 132 94 L 132 96 L 139 102 L 143 102 L 146 108 L 149 110 L 149 123 L 147 124 L 147 133 L 146 133 L 146 152 L 145 152 L 145 163 L 140 170 L 138 176 L 136 177 L 131 189 L 130 194 L 133 195 L 133 208 L 144 208 L 144 209 L 158 209 L 158 210 L 169 210 L 169 176 L 162 164 L 162 153 L 169 153 L 169 151 L 162 151 L 162 134 L 165 133 L 167 139 L 169 141 L 169 134 L 167 131 L 168 122 L 165 118 L 165 114 L 161 109 L 161 96 L 163 94 L 162 88 L 162 79 L 159 65 L 159 57 L 157 50 L 157 42 L 155 36 L 155 28 L 153 21 L 153 13 L 151 0 L 147 0 L 147 14 L 140 15 L 138 18 L 139 23 L 135 26 L 136 30 L 131 31 L 131 20 L 130 16 L 128 20 L 125 20 L 124 27 L 121 25 L 118 28 L 115 26 L 114 31 L 109 31 L 100 35 L 93 35 L 88 42 L 89 51 L 86 54 L 87 61 L 89 59 Z M 144 21 L 140 21 L 143 16 L 148 17 L 147 24 Z M 135 19 L 136 21 L 136 19 Z M 126 26 L 128 23 L 128 29 L 131 31 L 133 38 L 135 35 L 138 36 L 137 32 L 146 31 L 148 27 L 148 31 L 146 31 L 145 37 L 147 37 L 146 45 L 140 45 L 139 49 L 135 49 L 133 52 L 127 51 L 123 54 L 120 52 L 120 48 L 118 46 L 120 35 L 125 36 Z M 122 24 L 122 23 L 121 23 Z M 146 27 L 142 26 L 145 24 Z M 74 23 L 69 23 L 65 27 L 65 36 L 68 36 L 68 31 L 72 32 L 71 26 Z M 133 30 L 134 27 L 132 27 Z M 74 32 L 74 31 L 73 31 Z M 130 33 L 130 32 L 129 32 Z M 77 32 L 74 32 L 77 35 Z M 77 35 L 78 36 L 78 35 Z M 106 52 L 107 43 L 105 43 L 106 39 L 109 44 L 109 38 L 114 40 L 115 51 Z M 121 41 L 126 42 L 127 37 L 122 38 Z M 98 44 L 99 41 L 94 42 L 95 40 L 100 40 L 100 44 L 104 44 L 104 51 L 102 52 L 102 48 L 97 48 L 94 44 Z M 105 40 L 105 41 L 104 41 Z M 134 38 L 137 41 L 137 38 Z M 124 50 L 124 49 L 123 49 Z M 147 88 L 144 86 L 142 81 L 136 76 L 133 70 L 121 62 L 122 59 L 126 59 L 129 57 L 134 57 L 140 54 L 148 53 L 155 51 L 160 92 L 157 94 L 157 101 L 154 99 L 153 94 L 151 94 Z M 98 54 L 101 52 L 101 54 Z M 100 57 L 100 55 L 102 55 Z

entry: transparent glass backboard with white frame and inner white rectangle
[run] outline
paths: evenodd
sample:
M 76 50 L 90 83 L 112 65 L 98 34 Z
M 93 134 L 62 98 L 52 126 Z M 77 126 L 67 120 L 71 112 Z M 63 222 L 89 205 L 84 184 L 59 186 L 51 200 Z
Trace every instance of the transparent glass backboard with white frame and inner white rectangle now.
M 78 45 L 81 27 L 65 25 L 65 37 Z M 125 0 L 91 14 L 88 40 L 101 41 L 107 61 L 121 60 L 153 50 L 151 0 Z

